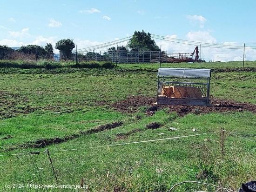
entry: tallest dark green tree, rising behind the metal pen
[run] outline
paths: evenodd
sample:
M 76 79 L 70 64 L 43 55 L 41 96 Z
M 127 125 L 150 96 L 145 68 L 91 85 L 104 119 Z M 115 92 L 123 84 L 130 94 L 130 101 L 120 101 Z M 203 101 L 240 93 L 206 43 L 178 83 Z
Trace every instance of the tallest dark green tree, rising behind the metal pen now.
M 155 44 L 155 40 L 151 39 L 151 34 L 145 33 L 143 30 L 142 32 L 134 32 L 133 37 L 128 42 L 128 47 L 139 51 L 160 51 L 160 48 Z

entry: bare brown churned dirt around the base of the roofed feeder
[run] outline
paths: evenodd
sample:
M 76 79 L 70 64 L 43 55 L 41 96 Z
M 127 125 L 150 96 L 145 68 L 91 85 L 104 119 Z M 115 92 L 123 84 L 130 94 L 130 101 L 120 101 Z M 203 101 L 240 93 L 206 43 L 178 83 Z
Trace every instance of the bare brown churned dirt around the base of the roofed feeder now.
M 114 108 L 117 111 L 123 113 L 136 112 L 139 106 L 150 106 L 146 110 L 147 115 L 153 115 L 157 110 L 161 108 L 169 108 L 170 112 L 177 112 L 180 117 L 188 114 L 203 114 L 211 112 L 241 112 L 250 111 L 256 113 L 256 105 L 249 103 L 239 103 L 228 99 L 216 99 L 212 97 L 210 99 L 212 106 L 185 106 L 185 105 L 155 105 L 156 98 L 152 97 L 129 97 L 126 100 L 115 103 Z M 133 110 L 131 110 L 133 109 Z

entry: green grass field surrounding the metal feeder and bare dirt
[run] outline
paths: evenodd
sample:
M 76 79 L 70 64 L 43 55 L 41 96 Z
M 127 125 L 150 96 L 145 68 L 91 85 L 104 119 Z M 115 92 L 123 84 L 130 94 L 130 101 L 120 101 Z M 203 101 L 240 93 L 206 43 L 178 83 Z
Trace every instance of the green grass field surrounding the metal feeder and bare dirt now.
M 200 64 L 162 64 L 198 68 Z M 242 62 L 203 63 L 204 68 L 238 68 Z M 216 132 L 255 134 L 256 114 L 248 111 L 189 113 L 180 117 L 166 108 L 154 115 L 146 106 L 135 113 L 121 113 L 111 106 L 129 96 L 155 97 L 159 64 L 118 64 L 114 69 L 0 68 L 0 191 L 107 191 L 168 192 L 185 180 L 197 180 L 237 190 L 256 178 L 256 138 L 225 134 L 221 154 L 220 133 L 121 146 L 134 141 L 163 139 Z M 256 62 L 246 62 L 255 68 Z M 241 67 L 240 67 L 241 68 Z M 211 95 L 256 105 L 255 71 L 214 72 Z M 121 121 L 115 128 L 82 134 L 99 125 Z M 158 122 L 162 126 L 148 129 Z M 175 127 L 177 131 L 169 131 Z M 197 132 L 193 132 L 195 128 Z M 39 139 L 65 138 L 42 148 L 30 144 Z M 124 135 L 123 137 L 118 137 Z M 254 141 L 251 141 L 251 140 Z M 99 148 L 88 148 L 104 146 Z M 55 184 L 47 154 L 53 160 L 61 185 L 88 185 L 87 189 L 10 189 L 7 184 Z M 74 151 L 60 151 L 77 149 Z M 184 184 L 175 192 L 209 191 L 215 187 Z

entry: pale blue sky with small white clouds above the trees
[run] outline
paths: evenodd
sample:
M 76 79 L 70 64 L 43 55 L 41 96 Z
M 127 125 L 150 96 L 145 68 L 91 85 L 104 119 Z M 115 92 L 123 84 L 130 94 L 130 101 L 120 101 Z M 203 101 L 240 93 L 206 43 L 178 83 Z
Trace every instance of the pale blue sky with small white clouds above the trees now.
M 80 49 L 143 29 L 183 40 L 238 46 L 245 43 L 250 48 L 256 46 L 255 7 L 256 0 L 1 0 L 0 45 L 45 46 L 69 38 Z M 155 41 L 168 53 L 191 53 L 195 49 Z M 256 49 L 245 50 L 245 55 L 246 60 L 256 60 Z M 202 58 L 243 60 L 243 50 L 203 47 Z

